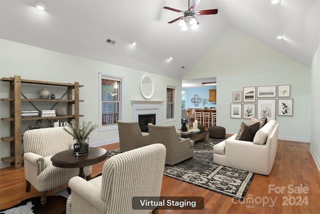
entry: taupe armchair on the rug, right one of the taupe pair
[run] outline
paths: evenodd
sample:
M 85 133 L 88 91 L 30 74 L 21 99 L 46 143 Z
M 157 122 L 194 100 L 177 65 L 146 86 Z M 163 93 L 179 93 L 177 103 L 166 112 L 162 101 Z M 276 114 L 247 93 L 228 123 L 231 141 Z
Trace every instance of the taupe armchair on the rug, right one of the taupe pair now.
M 174 165 L 193 157 L 193 140 L 177 136 L 174 126 L 148 124 L 150 143 L 162 143 L 166 147 L 165 164 Z

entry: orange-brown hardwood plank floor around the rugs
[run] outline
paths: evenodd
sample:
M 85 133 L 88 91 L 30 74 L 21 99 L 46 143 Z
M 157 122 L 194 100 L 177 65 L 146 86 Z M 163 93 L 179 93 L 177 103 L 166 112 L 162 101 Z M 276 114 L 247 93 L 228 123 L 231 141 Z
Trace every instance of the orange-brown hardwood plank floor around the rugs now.
M 107 150 L 118 143 L 101 146 Z M 92 166 L 92 176 L 101 172 L 103 162 Z M 24 191 L 24 168 L 0 169 L 0 209 L 39 193 L 31 186 Z M 50 190 L 48 195 L 65 188 Z M 283 189 L 281 192 L 280 189 Z M 320 213 L 320 172 L 309 151 L 309 143 L 278 141 L 269 176 L 255 174 L 243 201 L 163 176 L 161 196 L 202 196 L 202 210 L 161 210 L 158 213 Z M 251 199 L 251 200 L 250 200 Z

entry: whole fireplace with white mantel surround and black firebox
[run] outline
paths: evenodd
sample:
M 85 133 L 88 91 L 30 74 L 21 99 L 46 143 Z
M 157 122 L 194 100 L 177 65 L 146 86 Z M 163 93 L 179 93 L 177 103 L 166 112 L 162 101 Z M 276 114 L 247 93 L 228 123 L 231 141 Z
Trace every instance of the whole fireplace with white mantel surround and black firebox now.
M 148 132 L 148 123 L 160 125 L 161 103 L 163 103 L 163 101 L 131 100 L 132 122 L 138 122 L 142 132 Z

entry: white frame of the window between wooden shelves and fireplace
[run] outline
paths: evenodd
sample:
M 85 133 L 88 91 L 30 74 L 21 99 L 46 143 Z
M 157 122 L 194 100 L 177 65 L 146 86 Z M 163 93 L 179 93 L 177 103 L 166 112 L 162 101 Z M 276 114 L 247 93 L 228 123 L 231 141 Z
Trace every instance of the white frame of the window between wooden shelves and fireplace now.
M 119 99 L 118 99 L 118 103 L 119 103 L 119 117 L 118 120 L 122 120 L 123 118 L 123 89 L 124 89 L 124 77 L 120 76 L 120 75 L 115 75 L 115 74 L 110 74 L 110 73 L 103 73 L 103 72 L 99 72 L 98 73 L 99 76 L 99 84 L 98 84 L 98 100 L 99 100 L 99 113 L 98 113 L 98 124 L 99 124 L 99 131 L 107 131 L 107 130 L 114 130 L 117 129 L 117 123 L 113 123 L 113 124 L 106 124 L 106 125 L 102 125 L 102 79 L 117 79 L 120 81 L 120 89 L 118 89 L 119 92 Z

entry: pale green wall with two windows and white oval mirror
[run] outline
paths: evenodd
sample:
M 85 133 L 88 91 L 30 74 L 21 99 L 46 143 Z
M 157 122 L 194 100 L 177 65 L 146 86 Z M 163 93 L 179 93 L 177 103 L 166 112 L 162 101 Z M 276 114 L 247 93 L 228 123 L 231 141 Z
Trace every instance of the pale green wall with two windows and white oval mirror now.
M 125 77 L 124 83 L 124 115 L 123 121 L 132 121 L 132 108 L 130 100 L 145 100 L 139 89 L 140 78 L 145 72 L 119 67 L 99 61 L 84 59 L 81 57 L 62 54 L 54 51 L 0 40 L 0 77 L 13 77 L 20 75 L 22 79 L 74 83 L 84 85 L 80 88 L 79 112 L 84 117 L 80 121 L 92 121 L 98 124 L 98 72 L 122 75 Z M 161 121 L 162 125 L 180 126 L 180 104 L 181 104 L 181 80 L 172 79 L 155 74 L 149 74 L 155 83 L 153 101 L 165 100 L 165 84 L 176 85 L 176 101 L 179 103 L 176 108 L 176 121 L 165 122 L 165 104 L 162 104 Z M 40 86 L 43 87 L 43 86 Z M 8 82 L 0 82 L 0 98 L 8 98 Z M 56 88 L 50 88 L 50 92 L 61 93 Z M 66 90 L 66 89 L 65 89 Z M 32 109 L 34 110 L 34 109 Z M 9 102 L 0 102 L 0 117 L 9 117 Z M 25 123 L 23 121 L 22 123 Z M 34 124 L 34 121 L 33 121 Z M 22 128 L 22 130 L 25 130 Z M 0 136 L 9 136 L 9 123 L 0 121 Z M 97 129 L 90 135 L 90 142 L 105 144 L 118 142 L 117 130 L 101 131 Z M 0 142 L 0 157 L 9 156 L 9 143 Z

